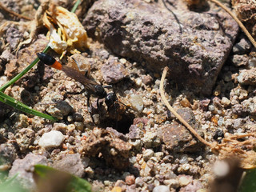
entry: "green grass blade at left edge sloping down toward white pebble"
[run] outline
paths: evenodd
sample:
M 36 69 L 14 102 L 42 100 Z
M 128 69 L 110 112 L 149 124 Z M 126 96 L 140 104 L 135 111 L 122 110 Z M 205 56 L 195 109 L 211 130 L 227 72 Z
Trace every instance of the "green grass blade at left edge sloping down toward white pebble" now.
M 48 114 L 42 114 L 41 112 L 39 112 L 37 110 L 30 109 L 29 106 L 26 106 L 22 102 L 18 102 L 16 99 L 10 97 L 7 94 L 2 93 L 1 91 L 0 91 L 0 102 L 3 102 L 8 106 L 14 107 L 16 110 L 21 110 L 25 113 L 34 114 L 38 117 L 46 118 L 46 119 L 49 119 L 51 121 L 57 121 L 57 118 L 54 118 L 54 117 L 52 117 Z

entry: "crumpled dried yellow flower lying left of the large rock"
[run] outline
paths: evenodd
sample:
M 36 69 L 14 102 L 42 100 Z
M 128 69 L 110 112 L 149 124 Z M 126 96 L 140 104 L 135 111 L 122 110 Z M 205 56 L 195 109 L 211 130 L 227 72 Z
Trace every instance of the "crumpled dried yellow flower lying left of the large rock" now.
M 78 50 L 89 47 L 86 30 L 76 14 L 61 6 L 51 6 L 43 15 L 42 21 L 49 30 L 49 46 L 58 54 L 63 56 L 66 50 L 71 54 L 79 53 Z

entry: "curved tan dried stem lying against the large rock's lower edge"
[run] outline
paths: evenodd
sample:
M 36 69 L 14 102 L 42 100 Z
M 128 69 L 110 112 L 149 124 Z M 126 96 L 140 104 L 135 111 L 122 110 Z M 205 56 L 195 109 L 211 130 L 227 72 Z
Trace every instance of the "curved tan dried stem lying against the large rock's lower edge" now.
M 213 148 L 213 144 L 210 143 L 210 142 L 206 142 L 205 139 L 203 139 L 194 129 L 192 126 L 190 126 L 190 124 L 188 124 L 175 110 L 172 106 L 170 106 L 169 102 L 167 101 L 166 99 L 166 96 L 165 96 L 165 91 L 164 91 L 164 88 L 163 88 L 163 82 L 166 78 L 166 74 L 167 74 L 167 70 L 168 70 L 168 66 L 166 66 L 162 72 L 162 78 L 161 78 L 161 82 L 160 82 L 160 94 L 161 94 L 161 98 L 162 98 L 162 101 L 166 104 L 167 108 L 170 110 L 171 113 L 173 113 L 175 115 L 176 118 L 178 118 L 178 120 L 180 122 L 182 122 L 182 124 L 184 126 L 186 126 L 186 128 L 188 130 L 190 130 L 190 132 L 192 134 L 194 134 L 194 136 L 196 138 L 198 138 L 198 140 L 200 142 L 202 142 L 203 144 L 205 144 L 206 146 L 210 146 L 210 148 Z

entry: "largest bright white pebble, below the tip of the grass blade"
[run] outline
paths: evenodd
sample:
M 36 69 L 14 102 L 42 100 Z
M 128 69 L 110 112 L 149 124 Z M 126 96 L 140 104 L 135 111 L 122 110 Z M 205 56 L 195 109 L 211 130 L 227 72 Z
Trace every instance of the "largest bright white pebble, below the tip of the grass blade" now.
M 42 135 L 42 138 L 40 138 L 38 145 L 44 148 L 57 147 L 62 144 L 64 139 L 65 136 L 62 134 L 62 132 L 58 130 L 51 130 L 50 132 Z

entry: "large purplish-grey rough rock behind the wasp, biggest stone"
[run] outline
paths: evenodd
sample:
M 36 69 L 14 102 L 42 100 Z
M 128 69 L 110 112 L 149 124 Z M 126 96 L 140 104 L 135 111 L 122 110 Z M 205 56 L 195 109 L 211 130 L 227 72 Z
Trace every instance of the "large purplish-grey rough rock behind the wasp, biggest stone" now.
M 145 62 L 157 73 L 170 66 L 170 77 L 178 85 L 210 94 L 238 25 L 212 4 L 205 12 L 194 12 L 182 1 L 174 6 L 161 3 L 99 0 L 83 25 L 90 37 L 100 39 L 114 54 Z

